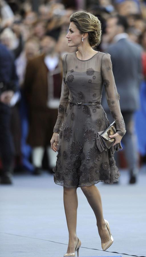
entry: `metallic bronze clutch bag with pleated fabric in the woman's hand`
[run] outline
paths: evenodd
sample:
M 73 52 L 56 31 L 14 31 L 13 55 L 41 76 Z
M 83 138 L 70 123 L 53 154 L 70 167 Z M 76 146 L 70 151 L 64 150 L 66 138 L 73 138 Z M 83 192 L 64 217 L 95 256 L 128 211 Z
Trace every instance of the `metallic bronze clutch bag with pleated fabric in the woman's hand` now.
M 115 142 L 115 138 L 110 138 L 109 135 L 114 135 L 116 133 L 116 123 L 115 121 L 104 131 L 98 131 L 96 134 L 96 145 L 100 152 L 108 150 L 111 148 L 111 151 L 114 153 L 115 150 L 119 151 L 122 149 L 121 142 L 112 146 Z

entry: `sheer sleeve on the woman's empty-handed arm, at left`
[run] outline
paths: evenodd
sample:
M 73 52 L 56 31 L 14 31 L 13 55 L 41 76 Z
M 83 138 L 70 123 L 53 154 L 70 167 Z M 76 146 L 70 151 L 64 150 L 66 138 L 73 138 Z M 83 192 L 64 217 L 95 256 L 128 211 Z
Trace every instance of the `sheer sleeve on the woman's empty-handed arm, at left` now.
M 62 79 L 62 85 L 61 85 L 61 96 L 60 96 L 59 107 L 58 107 L 57 121 L 56 121 L 54 129 L 53 129 L 53 132 L 57 132 L 57 133 L 60 132 L 60 128 L 61 128 L 64 116 L 65 116 L 65 111 L 66 111 L 67 105 L 69 103 L 69 99 L 68 99 L 69 89 L 65 83 L 65 77 L 67 74 L 66 57 L 67 57 L 67 54 L 65 54 L 62 59 L 63 79 Z

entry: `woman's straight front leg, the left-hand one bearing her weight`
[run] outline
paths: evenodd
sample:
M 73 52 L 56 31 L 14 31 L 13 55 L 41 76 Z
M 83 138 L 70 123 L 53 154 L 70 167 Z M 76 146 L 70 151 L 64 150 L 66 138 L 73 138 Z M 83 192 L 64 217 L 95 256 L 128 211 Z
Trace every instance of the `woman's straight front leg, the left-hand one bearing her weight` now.
M 78 243 L 76 228 L 77 228 L 77 188 L 66 188 L 63 186 L 63 202 L 69 232 L 69 243 L 67 252 L 74 252 Z

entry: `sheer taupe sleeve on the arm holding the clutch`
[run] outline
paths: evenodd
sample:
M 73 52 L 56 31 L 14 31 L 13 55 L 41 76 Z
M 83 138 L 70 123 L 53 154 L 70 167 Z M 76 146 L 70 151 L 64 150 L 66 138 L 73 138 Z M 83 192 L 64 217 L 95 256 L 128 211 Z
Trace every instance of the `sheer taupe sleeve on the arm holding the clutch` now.
M 120 110 L 120 95 L 118 94 L 116 88 L 114 75 L 112 72 L 112 62 L 110 59 L 110 54 L 108 53 L 105 53 L 102 56 L 101 71 L 107 103 L 110 109 L 110 113 L 116 122 L 117 133 L 121 136 L 124 136 L 126 129 Z

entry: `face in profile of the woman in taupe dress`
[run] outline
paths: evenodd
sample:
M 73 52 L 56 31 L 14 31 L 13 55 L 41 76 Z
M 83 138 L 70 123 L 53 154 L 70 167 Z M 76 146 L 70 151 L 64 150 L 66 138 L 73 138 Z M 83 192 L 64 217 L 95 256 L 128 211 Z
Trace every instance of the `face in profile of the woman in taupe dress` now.
M 78 47 L 82 43 L 82 34 L 80 34 L 75 23 L 69 25 L 69 32 L 66 35 L 69 47 Z

